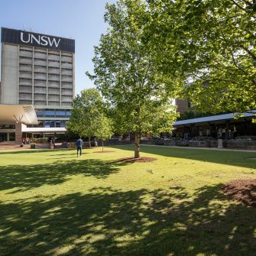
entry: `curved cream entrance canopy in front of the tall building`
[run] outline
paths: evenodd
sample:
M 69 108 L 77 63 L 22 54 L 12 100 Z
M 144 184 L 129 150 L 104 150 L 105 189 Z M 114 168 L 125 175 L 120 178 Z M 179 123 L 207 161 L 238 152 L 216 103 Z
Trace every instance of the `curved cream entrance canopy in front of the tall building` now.
M 33 105 L 4 105 L 0 104 L 0 123 L 37 125 L 37 115 Z

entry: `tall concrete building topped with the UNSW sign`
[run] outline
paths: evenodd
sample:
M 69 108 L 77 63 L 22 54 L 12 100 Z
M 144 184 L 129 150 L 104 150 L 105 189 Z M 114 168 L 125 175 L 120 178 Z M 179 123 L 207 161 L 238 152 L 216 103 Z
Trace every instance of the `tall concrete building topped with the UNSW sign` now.
M 0 103 L 34 105 L 37 128 L 64 128 L 75 95 L 75 41 L 10 28 L 1 38 Z

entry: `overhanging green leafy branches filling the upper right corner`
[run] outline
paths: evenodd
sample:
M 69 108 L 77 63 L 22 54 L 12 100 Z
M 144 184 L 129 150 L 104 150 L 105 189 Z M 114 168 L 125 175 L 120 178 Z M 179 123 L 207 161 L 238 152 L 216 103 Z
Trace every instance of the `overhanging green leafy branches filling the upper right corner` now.
M 255 109 L 255 0 L 147 3 L 144 40 L 160 72 L 183 79 L 183 92 L 197 109 Z

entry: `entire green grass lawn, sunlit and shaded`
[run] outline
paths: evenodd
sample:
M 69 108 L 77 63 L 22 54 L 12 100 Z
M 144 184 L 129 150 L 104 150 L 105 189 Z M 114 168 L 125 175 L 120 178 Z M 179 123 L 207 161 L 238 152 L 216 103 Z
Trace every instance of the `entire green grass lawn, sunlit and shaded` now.
M 255 255 L 256 209 L 222 184 L 256 153 L 141 147 L 0 151 L 0 255 Z

